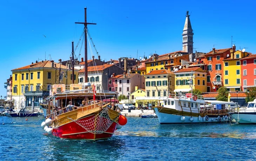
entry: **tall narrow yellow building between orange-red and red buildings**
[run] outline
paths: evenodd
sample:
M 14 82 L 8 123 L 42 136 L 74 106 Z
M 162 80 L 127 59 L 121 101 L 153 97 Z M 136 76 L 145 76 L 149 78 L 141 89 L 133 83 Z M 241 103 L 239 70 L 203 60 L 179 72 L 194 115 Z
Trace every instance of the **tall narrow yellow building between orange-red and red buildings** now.
M 247 56 L 248 52 L 235 51 L 235 49 L 233 45 L 230 56 L 223 60 L 223 82 L 224 87 L 227 87 L 229 91 L 241 91 L 241 75 L 247 75 L 246 71 L 241 71 L 240 59 Z

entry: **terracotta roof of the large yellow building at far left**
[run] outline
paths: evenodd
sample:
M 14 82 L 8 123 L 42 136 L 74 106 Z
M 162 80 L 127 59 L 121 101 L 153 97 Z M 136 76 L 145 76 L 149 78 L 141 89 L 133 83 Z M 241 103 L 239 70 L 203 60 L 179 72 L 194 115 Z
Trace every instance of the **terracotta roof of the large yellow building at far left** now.
M 56 65 L 56 67 L 55 67 Z M 21 69 L 33 69 L 33 68 L 61 68 L 61 69 L 69 69 L 68 66 L 60 65 L 59 63 L 54 63 L 54 66 L 52 67 L 52 62 L 50 61 L 41 61 L 38 63 L 33 63 L 27 66 L 23 66 L 21 68 L 16 68 L 13 70 L 21 70 Z M 12 70 L 12 71 L 13 71 Z M 77 69 L 75 69 L 77 70 Z

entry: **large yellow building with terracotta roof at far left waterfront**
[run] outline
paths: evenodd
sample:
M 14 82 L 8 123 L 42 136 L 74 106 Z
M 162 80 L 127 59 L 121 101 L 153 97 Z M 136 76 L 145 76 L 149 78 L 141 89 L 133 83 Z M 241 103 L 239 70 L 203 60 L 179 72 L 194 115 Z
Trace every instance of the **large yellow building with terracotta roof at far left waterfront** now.
M 72 69 L 54 61 L 36 61 L 11 71 L 12 98 L 16 107 L 32 107 L 32 100 L 42 102 L 49 96 L 52 84 L 72 84 Z M 75 83 L 78 83 L 78 71 L 75 69 Z

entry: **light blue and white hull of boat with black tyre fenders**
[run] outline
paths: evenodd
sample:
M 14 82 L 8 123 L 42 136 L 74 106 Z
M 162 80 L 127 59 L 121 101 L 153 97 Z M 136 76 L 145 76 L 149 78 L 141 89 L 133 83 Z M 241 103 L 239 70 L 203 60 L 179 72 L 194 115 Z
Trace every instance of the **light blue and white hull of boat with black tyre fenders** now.
M 193 124 L 193 123 L 217 123 L 217 122 L 226 122 L 229 121 L 228 119 L 223 119 L 223 116 L 228 116 L 227 115 L 207 115 L 209 117 L 208 120 L 203 118 L 203 115 L 199 117 L 198 113 L 194 113 L 192 116 L 185 116 L 184 121 L 181 121 L 181 117 L 183 117 L 182 115 L 178 115 L 178 114 L 171 114 L 171 112 L 173 110 L 171 110 L 168 113 L 168 109 L 166 108 L 165 111 L 167 111 L 166 113 L 163 113 L 162 111 L 159 110 L 159 108 L 154 108 L 155 113 L 159 119 L 160 124 Z M 159 112 L 160 111 L 160 112 Z M 164 110 L 163 110 L 164 111 Z M 220 116 L 219 118 L 221 118 L 221 121 L 218 118 L 218 116 Z M 193 119 L 191 119 L 193 118 Z M 193 121 L 191 121 L 193 120 Z

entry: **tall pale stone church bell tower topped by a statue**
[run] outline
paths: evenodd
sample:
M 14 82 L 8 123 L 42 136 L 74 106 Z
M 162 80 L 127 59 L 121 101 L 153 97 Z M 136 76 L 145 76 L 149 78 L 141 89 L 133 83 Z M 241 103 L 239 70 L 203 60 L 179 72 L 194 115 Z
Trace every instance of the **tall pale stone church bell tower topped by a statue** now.
M 182 47 L 183 47 L 183 51 L 188 52 L 188 54 L 193 53 L 193 29 L 191 27 L 191 23 L 190 23 L 190 19 L 189 19 L 188 15 L 188 11 L 186 14 L 186 21 L 185 21 L 185 25 L 183 28 L 183 33 L 182 33 Z

